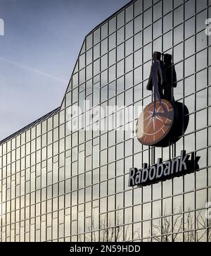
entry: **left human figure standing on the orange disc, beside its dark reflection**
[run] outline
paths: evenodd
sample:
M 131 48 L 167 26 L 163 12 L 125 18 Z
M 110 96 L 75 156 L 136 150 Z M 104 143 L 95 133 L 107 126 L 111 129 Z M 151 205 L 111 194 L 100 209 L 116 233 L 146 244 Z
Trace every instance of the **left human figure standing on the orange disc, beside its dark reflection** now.
M 158 75 L 160 75 L 160 77 L 158 77 Z M 156 106 L 157 99 L 160 101 L 160 106 L 161 106 L 161 95 L 160 95 L 161 86 L 162 86 L 162 71 L 160 67 L 160 61 L 158 60 L 158 52 L 155 51 L 153 52 L 153 65 L 151 66 L 151 74 L 150 74 L 148 85 L 147 85 L 148 90 L 152 90 L 152 87 L 153 87 L 153 95 L 154 95 L 153 116 L 155 115 L 155 106 Z

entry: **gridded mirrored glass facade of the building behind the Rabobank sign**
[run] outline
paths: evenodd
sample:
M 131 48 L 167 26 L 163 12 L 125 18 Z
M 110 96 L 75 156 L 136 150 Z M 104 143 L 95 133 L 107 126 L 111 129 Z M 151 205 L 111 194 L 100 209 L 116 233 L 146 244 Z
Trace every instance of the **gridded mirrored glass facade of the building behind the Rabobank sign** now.
M 209 17 L 210 0 L 136 0 L 85 37 L 61 106 L 0 142 L 1 241 L 211 240 Z M 173 56 L 174 98 L 189 110 L 186 133 L 170 147 L 141 145 L 126 128 L 140 113 L 118 129 L 94 129 L 127 106 L 152 102 L 153 51 Z M 72 114 L 71 106 L 84 111 Z M 114 110 L 90 122 L 94 106 Z M 72 129 L 81 119 L 88 121 Z M 132 166 L 181 150 L 200 157 L 199 171 L 128 186 Z

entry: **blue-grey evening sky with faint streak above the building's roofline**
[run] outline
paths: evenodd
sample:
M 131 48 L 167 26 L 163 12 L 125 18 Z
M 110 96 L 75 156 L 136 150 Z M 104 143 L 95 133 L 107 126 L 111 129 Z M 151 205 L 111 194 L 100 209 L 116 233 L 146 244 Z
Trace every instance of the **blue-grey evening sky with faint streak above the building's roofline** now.
M 0 140 L 60 106 L 84 37 L 128 2 L 0 0 Z

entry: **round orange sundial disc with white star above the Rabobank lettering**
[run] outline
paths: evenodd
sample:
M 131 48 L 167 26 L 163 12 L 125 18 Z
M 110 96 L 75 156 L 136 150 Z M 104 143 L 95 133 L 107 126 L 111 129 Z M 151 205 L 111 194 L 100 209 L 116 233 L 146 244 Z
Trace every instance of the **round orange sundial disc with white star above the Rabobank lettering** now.
M 136 124 L 136 136 L 143 145 L 155 145 L 170 133 L 174 108 L 166 99 L 148 104 Z

